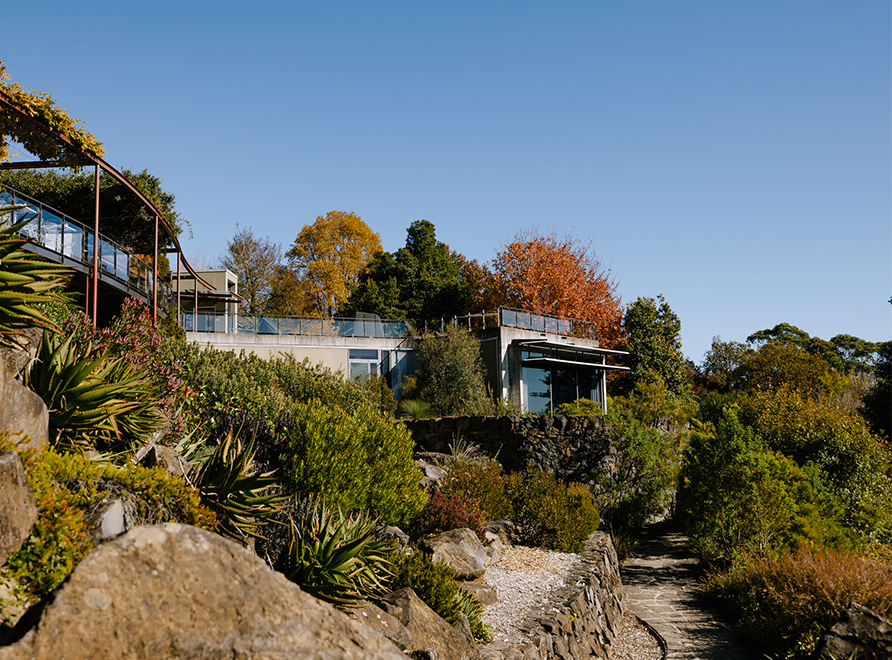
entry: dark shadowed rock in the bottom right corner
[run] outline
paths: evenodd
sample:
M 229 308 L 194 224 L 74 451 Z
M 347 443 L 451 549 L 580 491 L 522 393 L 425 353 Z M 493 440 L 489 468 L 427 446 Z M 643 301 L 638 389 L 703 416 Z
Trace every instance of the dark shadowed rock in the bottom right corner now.
M 865 653 L 870 649 L 872 655 Z M 892 621 L 856 603 L 850 604 L 842 619 L 821 638 L 815 658 L 870 657 L 892 660 Z

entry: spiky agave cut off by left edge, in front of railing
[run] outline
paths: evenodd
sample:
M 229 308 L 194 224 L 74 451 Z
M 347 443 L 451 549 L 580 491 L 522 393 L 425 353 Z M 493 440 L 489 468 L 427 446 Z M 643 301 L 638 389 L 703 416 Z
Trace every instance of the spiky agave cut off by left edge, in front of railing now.
M 0 208 L 0 219 L 11 214 L 17 206 Z M 18 231 L 30 218 L 0 229 L 0 345 L 13 345 L 12 336 L 22 334 L 24 328 L 54 328 L 53 322 L 35 304 L 64 302 L 59 295 L 71 277 L 71 269 L 47 261 L 22 250 L 27 239 Z

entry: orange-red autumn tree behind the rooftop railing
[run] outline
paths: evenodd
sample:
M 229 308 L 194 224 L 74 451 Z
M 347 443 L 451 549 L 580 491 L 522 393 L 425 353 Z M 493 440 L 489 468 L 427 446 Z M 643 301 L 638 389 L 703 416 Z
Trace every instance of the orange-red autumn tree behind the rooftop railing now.
M 622 332 L 622 308 L 610 271 L 591 243 L 553 232 L 518 232 L 490 264 L 490 281 L 480 303 L 565 316 L 594 325 L 603 346 Z

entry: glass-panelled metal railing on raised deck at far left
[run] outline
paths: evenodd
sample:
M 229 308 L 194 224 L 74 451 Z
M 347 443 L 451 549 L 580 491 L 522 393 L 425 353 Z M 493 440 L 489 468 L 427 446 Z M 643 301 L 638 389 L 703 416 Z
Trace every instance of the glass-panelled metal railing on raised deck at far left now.
M 68 257 L 92 268 L 94 245 L 92 229 L 8 186 L 4 186 L 0 191 L 0 207 L 6 206 L 19 208 L 0 215 L 0 227 L 30 219 L 31 221 L 21 229 L 22 236 L 58 255 L 59 262 L 64 263 L 64 257 Z M 154 284 L 152 265 L 145 257 L 125 250 L 101 233 L 99 269 L 114 281 L 135 289 L 146 300 L 151 300 Z M 171 309 L 174 298 L 170 285 L 159 279 L 158 305 L 164 309 Z

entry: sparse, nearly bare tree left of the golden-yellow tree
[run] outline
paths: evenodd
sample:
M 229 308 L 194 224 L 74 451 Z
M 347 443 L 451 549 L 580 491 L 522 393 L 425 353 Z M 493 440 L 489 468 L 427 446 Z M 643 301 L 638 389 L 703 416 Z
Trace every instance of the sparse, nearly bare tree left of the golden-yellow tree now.
M 276 269 L 282 257 L 282 248 L 270 240 L 260 238 L 250 227 L 239 229 L 226 241 L 226 254 L 220 265 L 238 275 L 239 295 L 247 302 L 242 310 L 247 314 L 265 313 L 275 281 Z

